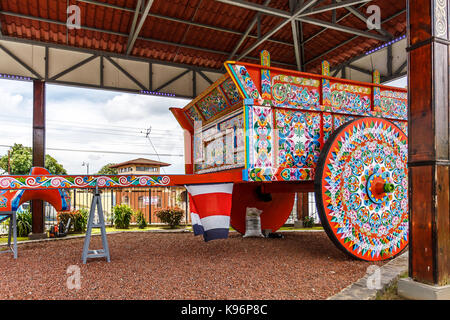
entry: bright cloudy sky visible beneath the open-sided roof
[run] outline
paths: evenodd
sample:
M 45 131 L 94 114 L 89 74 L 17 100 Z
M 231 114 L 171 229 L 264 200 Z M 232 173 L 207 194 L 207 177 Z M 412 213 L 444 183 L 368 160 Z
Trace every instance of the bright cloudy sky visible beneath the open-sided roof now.
M 385 84 L 406 87 L 407 80 Z M 14 143 L 32 145 L 32 90 L 32 82 L 0 79 L 0 156 Z M 68 174 L 86 174 L 83 163 L 95 174 L 108 163 L 141 157 L 170 163 L 162 173 L 184 173 L 183 130 L 169 107 L 190 100 L 51 84 L 46 99 L 46 153 Z

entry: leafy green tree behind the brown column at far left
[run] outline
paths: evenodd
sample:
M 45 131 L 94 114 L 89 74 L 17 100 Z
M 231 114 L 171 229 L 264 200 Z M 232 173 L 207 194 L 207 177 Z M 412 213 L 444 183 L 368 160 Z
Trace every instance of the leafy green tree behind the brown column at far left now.
M 15 143 L 10 150 L 11 174 L 29 174 L 33 166 L 33 153 L 30 147 Z M 8 154 L 0 158 L 0 168 L 8 172 Z M 51 174 L 67 174 L 66 169 L 50 155 L 45 155 L 45 168 Z

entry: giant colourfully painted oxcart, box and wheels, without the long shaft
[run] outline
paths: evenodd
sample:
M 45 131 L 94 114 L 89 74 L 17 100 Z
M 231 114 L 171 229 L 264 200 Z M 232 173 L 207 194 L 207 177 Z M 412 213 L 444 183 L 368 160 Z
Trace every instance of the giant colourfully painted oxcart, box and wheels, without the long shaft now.
M 407 92 L 372 83 L 229 61 L 227 73 L 186 107 L 186 173 L 234 173 L 230 222 L 263 210 L 278 230 L 295 192 L 315 192 L 324 229 L 343 251 L 384 260 L 408 243 Z M 237 172 L 237 173 L 236 173 Z M 226 179 L 223 179 L 226 180 Z

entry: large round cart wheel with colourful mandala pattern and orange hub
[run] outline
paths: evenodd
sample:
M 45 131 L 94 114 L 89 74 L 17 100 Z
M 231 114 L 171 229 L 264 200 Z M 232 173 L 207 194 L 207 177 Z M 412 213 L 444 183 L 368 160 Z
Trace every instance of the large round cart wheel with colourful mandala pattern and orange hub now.
M 406 135 L 380 118 L 342 125 L 321 151 L 315 176 L 322 225 L 338 248 L 380 261 L 408 244 Z

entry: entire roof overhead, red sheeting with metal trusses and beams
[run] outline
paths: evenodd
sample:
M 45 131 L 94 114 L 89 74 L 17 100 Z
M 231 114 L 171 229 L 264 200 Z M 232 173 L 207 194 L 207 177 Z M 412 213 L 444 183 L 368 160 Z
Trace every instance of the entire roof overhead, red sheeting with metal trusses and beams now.
M 371 5 L 381 29 L 368 30 Z M 193 98 L 262 49 L 287 69 L 406 73 L 403 0 L 2 0 L 0 23 L 0 74 L 49 83 Z

